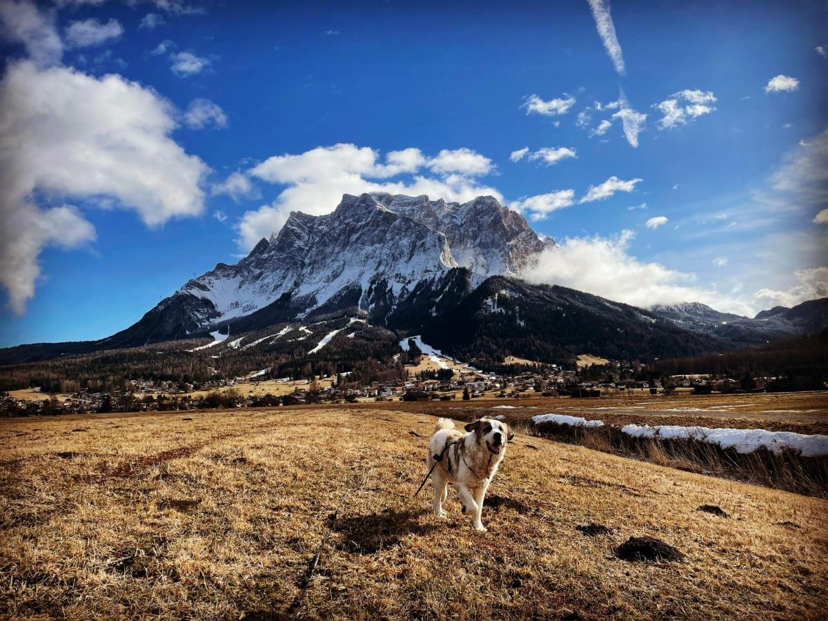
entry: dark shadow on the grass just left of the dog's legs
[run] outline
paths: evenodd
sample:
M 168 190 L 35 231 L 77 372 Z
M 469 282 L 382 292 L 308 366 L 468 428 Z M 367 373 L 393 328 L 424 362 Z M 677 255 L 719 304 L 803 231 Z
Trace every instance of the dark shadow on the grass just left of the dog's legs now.
M 340 517 L 333 524 L 335 532 L 342 536 L 336 548 L 352 554 L 376 554 L 396 546 L 407 535 L 427 535 L 437 526 L 420 522 L 426 513 L 426 509 L 383 509 L 379 513 Z

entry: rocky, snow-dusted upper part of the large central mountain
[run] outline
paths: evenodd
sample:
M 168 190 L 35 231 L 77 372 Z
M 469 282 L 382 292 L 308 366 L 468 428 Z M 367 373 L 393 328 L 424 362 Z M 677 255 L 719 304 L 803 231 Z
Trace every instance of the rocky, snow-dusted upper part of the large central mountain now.
M 286 320 L 353 306 L 383 323 L 417 287 L 439 297 L 438 285 L 458 267 L 477 286 L 490 276 L 517 275 L 551 245 L 491 196 L 460 205 L 427 196 L 344 195 L 330 214 L 292 212 L 248 257 L 219 263 L 147 315 L 181 309 L 181 329 L 161 338 L 268 308 L 278 313 L 268 311 L 267 320 Z

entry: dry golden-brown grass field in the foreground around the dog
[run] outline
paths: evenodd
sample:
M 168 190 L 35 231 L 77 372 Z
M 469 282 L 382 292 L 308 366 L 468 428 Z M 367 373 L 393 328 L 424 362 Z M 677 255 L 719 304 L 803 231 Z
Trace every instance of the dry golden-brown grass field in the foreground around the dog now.
M 411 498 L 435 419 L 391 405 L 0 421 L 0 615 L 825 616 L 826 501 L 518 434 L 479 534 Z

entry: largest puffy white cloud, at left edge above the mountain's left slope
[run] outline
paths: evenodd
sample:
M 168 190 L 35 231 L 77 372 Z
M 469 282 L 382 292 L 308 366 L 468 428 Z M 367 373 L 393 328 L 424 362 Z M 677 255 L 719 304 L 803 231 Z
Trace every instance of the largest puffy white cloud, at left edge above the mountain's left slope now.
M 149 226 L 198 215 L 209 171 L 169 137 L 171 104 L 118 75 L 8 65 L 0 84 L 0 283 L 22 313 L 49 244 L 94 238 L 79 210 L 36 200 L 85 199 L 132 209 Z

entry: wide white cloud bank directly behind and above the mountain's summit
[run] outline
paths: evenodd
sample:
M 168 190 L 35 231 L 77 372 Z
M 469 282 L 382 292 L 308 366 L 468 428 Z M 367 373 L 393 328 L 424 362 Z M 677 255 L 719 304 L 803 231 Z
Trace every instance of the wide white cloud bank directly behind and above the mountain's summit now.
M 467 148 L 444 149 L 434 157 L 408 148 L 388 152 L 383 161 L 374 149 L 340 143 L 297 155 L 272 156 L 248 173 L 286 187 L 271 205 L 243 214 L 238 223 L 238 243 L 244 249 L 253 248 L 259 239 L 282 229 L 291 211 L 329 214 L 343 194 L 378 191 L 458 202 L 492 195 L 503 200 L 498 190 L 476 179 L 493 170 L 488 157 Z M 407 178 L 392 180 L 401 175 Z

